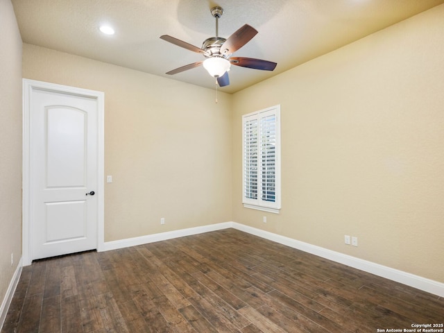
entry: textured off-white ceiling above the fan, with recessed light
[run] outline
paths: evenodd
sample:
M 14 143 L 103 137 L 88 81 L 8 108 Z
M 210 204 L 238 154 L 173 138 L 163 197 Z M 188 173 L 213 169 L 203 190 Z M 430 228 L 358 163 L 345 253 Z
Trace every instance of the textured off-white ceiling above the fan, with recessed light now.
M 200 47 L 215 35 L 210 8 L 221 6 L 220 36 L 227 38 L 244 24 L 259 31 L 233 56 L 278 62 L 273 72 L 232 66 L 230 85 L 221 88 L 228 93 L 441 3 L 444 0 L 12 0 L 25 43 L 210 88 L 214 78 L 203 67 L 164 74 L 204 58 L 159 37 L 171 35 Z M 114 35 L 99 31 L 105 23 L 114 27 Z

